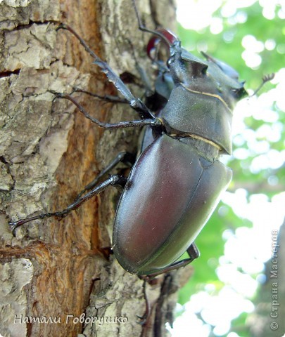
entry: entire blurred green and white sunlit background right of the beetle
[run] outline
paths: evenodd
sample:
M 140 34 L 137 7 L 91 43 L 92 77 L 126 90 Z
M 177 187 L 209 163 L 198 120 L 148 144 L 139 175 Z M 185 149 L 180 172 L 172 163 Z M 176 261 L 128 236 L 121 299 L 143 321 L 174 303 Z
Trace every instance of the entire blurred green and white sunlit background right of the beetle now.
M 196 241 L 202 256 L 168 326 L 173 337 L 252 336 L 248 314 L 266 281 L 272 230 L 285 216 L 284 18 L 285 1 L 177 0 L 178 35 L 187 50 L 232 65 L 250 94 L 262 76 L 275 77 L 234 112 L 233 156 L 224 158 L 234 179 Z

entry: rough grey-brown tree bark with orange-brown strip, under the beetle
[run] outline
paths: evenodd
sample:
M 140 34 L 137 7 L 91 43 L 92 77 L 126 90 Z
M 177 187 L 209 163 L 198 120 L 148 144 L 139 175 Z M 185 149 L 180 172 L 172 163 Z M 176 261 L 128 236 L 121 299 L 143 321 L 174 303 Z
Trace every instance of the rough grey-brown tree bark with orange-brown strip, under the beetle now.
M 173 25 L 172 0 L 137 2 L 148 27 L 154 21 Z M 50 91 L 70 93 L 72 86 L 116 94 L 79 42 L 56 32 L 58 22 L 70 24 L 118 74 L 139 78 L 134 53 L 152 70 L 145 55 L 148 37 L 137 29 L 131 0 L 0 2 L 0 333 L 167 336 L 165 322 L 172 320 L 177 289 L 191 267 L 147 285 L 151 317 L 137 324 L 146 305 L 142 281 L 108 249 L 117 190 L 110 187 L 61 221 L 25 225 L 16 237 L 8 228 L 11 218 L 63 209 L 116 153 L 136 151 L 137 130 L 103 131 L 69 102 L 53 103 Z M 129 85 L 141 95 L 141 88 Z M 75 97 L 102 121 L 137 117 L 125 105 Z M 78 322 L 84 314 L 98 320 Z

